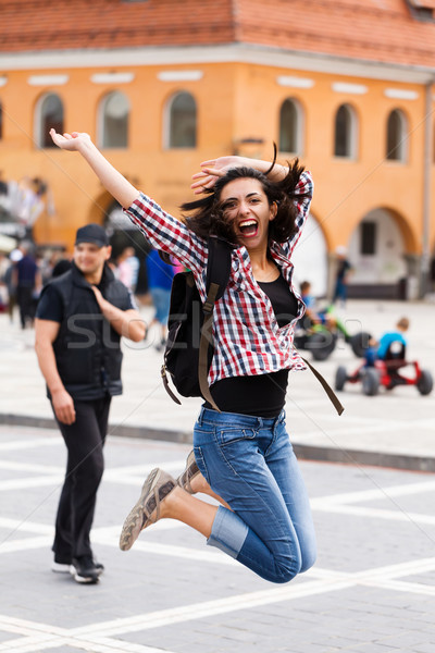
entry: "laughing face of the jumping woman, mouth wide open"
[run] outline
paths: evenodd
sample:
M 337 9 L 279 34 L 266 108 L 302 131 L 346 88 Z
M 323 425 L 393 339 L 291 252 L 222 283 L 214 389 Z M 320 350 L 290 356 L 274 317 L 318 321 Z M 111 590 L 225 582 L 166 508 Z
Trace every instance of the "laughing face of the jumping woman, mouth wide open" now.
M 229 182 L 221 190 L 220 202 L 240 245 L 248 250 L 268 247 L 269 223 L 276 215 L 276 205 L 269 204 L 258 180 L 246 177 Z

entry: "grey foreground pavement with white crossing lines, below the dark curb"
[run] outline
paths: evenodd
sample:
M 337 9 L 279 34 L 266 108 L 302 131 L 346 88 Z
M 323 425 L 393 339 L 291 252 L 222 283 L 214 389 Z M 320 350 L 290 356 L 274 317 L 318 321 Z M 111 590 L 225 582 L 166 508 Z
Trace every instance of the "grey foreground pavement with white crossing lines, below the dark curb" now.
M 105 571 L 50 571 L 65 451 L 53 430 L 0 427 L 0 651 L 433 653 L 435 477 L 302 461 L 319 559 L 285 586 L 163 520 L 133 550 L 120 525 L 147 471 L 188 445 L 109 436 L 92 543 Z

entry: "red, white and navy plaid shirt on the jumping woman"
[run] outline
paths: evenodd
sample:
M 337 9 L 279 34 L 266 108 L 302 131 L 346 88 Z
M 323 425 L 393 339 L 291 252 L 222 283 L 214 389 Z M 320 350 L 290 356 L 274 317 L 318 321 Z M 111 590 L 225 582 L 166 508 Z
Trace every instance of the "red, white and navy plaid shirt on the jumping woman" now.
M 306 171 L 296 188 L 297 194 L 307 194 L 307 198 L 297 205 L 297 232 L 286 243 L 271 245 L 271 255 L 298 300 L 296 318 L 289 324 L 278 326 L 269 297 L 253 278 L 248 250 L 244 246 L 233 249 L 228 285 L 214 308 L 214 356 L 209 371 L 210 385 L 228 377 L 306 369 L 293 347 L 295 324 L 303 316 L 304 305 L 291 282 L 294 267 L 290 256 L 307 220 L 312 189 L 311 175 Z M 192 271 L 204 301 L 207 242 L 144 194 L 125 212 L 151 245 L 173 255 Z

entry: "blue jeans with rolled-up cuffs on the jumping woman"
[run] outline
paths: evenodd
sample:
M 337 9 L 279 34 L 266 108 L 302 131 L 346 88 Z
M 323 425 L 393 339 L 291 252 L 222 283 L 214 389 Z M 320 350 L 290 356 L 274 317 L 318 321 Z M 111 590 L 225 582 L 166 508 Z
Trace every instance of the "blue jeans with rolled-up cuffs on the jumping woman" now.
M 303 479 L 286 428 L 275 419 L 202 408 L 194 430 L 197 465 L 219 506 L 208 544 L 272 582 L 315 562 L 315 534 Z

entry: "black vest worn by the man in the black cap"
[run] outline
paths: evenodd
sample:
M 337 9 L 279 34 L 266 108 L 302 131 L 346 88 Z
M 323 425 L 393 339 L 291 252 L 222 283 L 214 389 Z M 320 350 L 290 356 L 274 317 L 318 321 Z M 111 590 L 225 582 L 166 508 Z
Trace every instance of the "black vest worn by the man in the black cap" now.
M 121 394 L 121 337 L 102 316 L 90 284 L 73 263 L 69 272 L 52 280 L 50 285 L 55 287 L 63 304 L 63 319 L 53 349 L 66 391 L 79 401 Z M 129 306 L 127 288 L 108 266 L 99 288 L 116 308 L 125 310 Z

